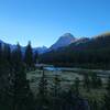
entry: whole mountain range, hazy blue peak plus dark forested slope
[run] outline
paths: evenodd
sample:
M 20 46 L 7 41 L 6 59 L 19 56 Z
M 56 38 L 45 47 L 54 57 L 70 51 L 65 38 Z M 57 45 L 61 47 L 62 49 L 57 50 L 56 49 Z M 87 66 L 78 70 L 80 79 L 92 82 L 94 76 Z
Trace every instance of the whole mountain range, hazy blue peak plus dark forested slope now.
M 7 44 L 10 50 L 16 45 L 0 41 Z M 21 46 L 25 54 L 26 46 Z M 70 33 L 62 35 L 51 47 L 34 47 L 33 55 L 38 54 L 38 63 L 53 64 L 56 66 L 77 66 L 89 68 L 110 68 L 110 33 L 98 36 L 76 38 Z M 36 59 L 35 59 L 36 61 Z

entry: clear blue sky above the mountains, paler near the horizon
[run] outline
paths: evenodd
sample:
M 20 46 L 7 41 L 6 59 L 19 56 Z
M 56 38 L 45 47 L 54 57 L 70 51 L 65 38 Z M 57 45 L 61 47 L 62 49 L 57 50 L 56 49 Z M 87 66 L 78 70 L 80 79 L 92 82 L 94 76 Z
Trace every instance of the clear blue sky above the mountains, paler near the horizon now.
M 0 0 L 0 40 L 50 46 L 62 34 L 110 31 L 110 0 Z

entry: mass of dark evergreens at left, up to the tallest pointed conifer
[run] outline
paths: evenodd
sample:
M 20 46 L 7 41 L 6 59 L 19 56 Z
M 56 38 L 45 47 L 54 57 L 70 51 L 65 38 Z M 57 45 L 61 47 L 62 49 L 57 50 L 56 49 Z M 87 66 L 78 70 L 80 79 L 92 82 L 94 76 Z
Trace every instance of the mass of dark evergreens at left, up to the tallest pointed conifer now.
M 35 110 L 25 69 L 20 45 L 11 52 L 0 44 L 0 110 Z

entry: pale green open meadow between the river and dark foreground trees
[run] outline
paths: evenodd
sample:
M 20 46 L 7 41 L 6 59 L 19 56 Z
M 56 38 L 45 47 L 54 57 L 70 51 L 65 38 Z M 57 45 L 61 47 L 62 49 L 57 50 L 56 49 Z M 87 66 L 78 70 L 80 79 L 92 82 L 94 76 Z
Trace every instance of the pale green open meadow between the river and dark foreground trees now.
M 42 77 L 43 70 L 36 69 L 33 72 L 28 73 L 28 79 L 30 80 L 31 89 L 36 95 L 37 92 L 37 86 L 40 82 L 40 79 Z M 103 96 L 106 94 L 106 86 L 107 80 L 110 75 L 109 70 L 95 70 L 95 69 L 72 69 L 72 70 L 44 70 L 48 88 L 51 88 L 51 85 L 53 84 L 54 77 L 57 75 L 61 79 L 61 89 L 67 90 L 68 88 L 73 87 L 75 79 L 79 78 L 79 94 L 85 99 L 88 99 L 90 102 L 92 100 L 96 100 L 99 106 L 102 105 Z M 92 74 L 97 74 L 98 77 L 102 80 L 102 87 L 100 88 L 90 88 L 89 91 L 87 91 L 84 88 L 84 76 L 85 74 L 88 74 L 90 77 Z

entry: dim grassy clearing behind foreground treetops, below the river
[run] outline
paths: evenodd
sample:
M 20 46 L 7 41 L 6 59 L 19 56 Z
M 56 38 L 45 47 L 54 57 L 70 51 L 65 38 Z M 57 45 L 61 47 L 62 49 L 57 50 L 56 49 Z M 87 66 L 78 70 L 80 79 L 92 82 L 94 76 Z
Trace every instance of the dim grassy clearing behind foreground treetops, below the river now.
M 80 95 L 84 98 L 89 99 L 90 101 L 92 100 L 97 100 L 100 105 L 102 103 L 102 99 L 103 96 L 106 94 L 106 82 L 107 82 L 107 78 L 108 75 L 106 74 L 99 74 L 102 82 L 103 82 L 103 87 L 102 88 L 97 88 L 97 89 L 90 89 L 89 92 L 86 91 L 86 89 L 84 89 L 82 87 L 82 78 L 84 78 L 84 74 L 88 73 L 89 75 L 91 75 L 94 72 L 90 70 L 85 70 L 85 72 L 50 72 L 50 70 L 45 70 L 45 75 L 47 77 L 48 84 L 53 84 L 53 78 L 55 77 L 55 74 L 59 75 L 61 78 L 61 85 L 63 89 L 67 89 L 68 87 L 70 87 L 75 80 L 76 77 L 78 77 L 80 79 Z M 103 77 L 105 75 L 105 77 Z M 28 73 L 28 79 L 30 80 L 30 85 L 31 85 L 31 89 L 34 92 L 34 95 L 37 92 L 37 82 L 40 81 L 40 78 L 42 76 L 42 70 L 34 70 L 34 72 L 30 72 Z

